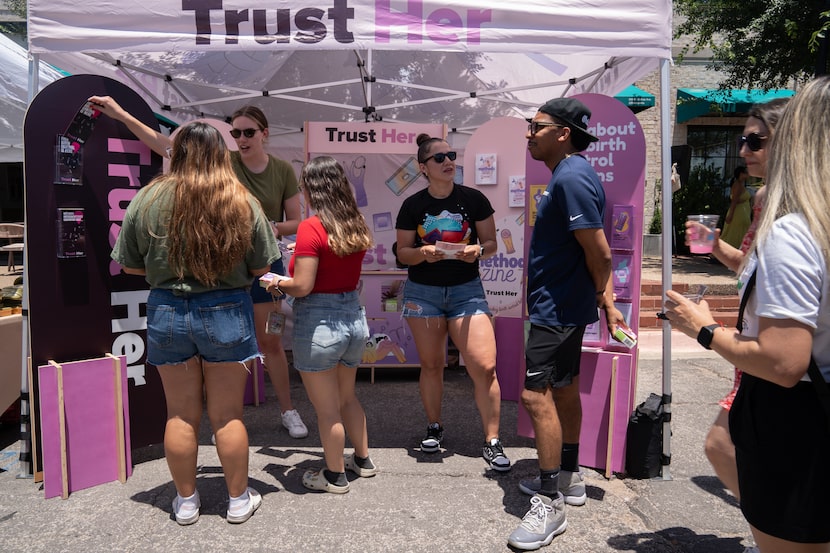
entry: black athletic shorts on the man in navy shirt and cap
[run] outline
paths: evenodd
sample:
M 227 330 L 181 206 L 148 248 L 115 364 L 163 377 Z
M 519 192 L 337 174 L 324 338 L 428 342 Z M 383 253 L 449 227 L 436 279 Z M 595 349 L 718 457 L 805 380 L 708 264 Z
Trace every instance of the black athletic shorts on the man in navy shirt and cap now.
M 531 323 L 525 346 L 525 388 L 564 388 L 579 375 L 584 326 Z

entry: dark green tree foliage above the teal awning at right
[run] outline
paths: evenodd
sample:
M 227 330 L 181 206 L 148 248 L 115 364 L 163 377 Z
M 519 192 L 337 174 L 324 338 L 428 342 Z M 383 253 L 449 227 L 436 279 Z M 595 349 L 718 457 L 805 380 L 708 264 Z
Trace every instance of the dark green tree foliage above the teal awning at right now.
M 684 53 L 711 49 L 722 89 L 787 88 L 809 80 L 818 60 L 826 65 L 827 0 L 674 0 L 674 10 L 675 38 L 692 41 Z

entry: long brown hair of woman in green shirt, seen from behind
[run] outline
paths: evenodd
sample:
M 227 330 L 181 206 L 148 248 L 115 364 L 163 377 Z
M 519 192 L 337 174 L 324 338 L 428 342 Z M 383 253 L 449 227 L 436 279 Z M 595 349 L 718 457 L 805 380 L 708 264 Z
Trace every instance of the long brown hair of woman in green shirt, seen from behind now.
M 211 125 L 183 126 L 173 139 L 169 173 L 157 177 L 154 198 L 173 194 L 167 260 L 181 280 L 193 275 L 205 286 L 238 265 L 251 249 L 253 212 L 237 179 L 221 133 Z

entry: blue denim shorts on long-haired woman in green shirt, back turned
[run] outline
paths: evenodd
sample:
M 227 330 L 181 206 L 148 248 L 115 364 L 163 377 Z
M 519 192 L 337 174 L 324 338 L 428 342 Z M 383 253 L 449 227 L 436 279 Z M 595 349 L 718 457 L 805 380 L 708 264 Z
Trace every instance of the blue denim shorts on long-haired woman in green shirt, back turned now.
M 176 295 L 155 288 L 147 299 L 147 362 L 248 361 L 259 354 L 254 308 L 243 288 Z

